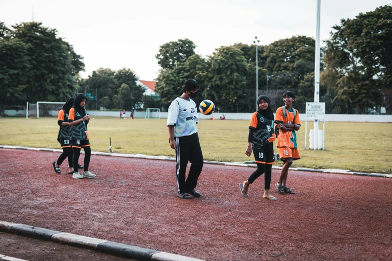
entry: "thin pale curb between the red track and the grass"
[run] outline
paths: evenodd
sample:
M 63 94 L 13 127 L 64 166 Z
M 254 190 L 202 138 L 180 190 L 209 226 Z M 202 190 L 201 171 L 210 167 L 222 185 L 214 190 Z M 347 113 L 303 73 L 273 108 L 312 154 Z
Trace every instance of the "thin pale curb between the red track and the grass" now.
M 56 148 L 23 147 L 23 146 L 9 146 L 9 145 L 0 145 L 0 148 L 63 152 L 62 149 L 56 149 Z M 84 153 L 84 151 L 81 151 L 81 153 Z M 160 160 L 176 160 L 175 157 L 150 156 L 150 155 L 143 155 L 143 154 L 125 154 L 125 153 L 112 153 L 112 152 L 100 152 L 100 151 L 91 151 L 91 154 L 103 155 L 103 156 L 133 157 L 133 158 L 160 159 Z M 243 162 L 224 162 L 224 161 L 210 161 L 210 160 L 204 160 L 204 163 L 231 165 L 231 166 L 249 166 L 249 167 L 256 167 L 257 166 L 256 164 L 245 164 Z M 272 168 L 281 169 L 282 167 L 272 166 Z M 316 168 L 307 168 L 307 167 L 290 167 L 289 169 L 290 170 L 298 170 L 298 171 L 324 172 L 324 173 L 348 174 L 348 175 L 359 175 L 359 176 L 392 177 L 392 174 L 354 172 L 354 171 L 350 171 L 347 169 L 316 169 Z

